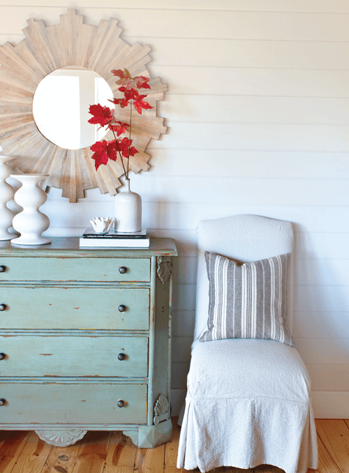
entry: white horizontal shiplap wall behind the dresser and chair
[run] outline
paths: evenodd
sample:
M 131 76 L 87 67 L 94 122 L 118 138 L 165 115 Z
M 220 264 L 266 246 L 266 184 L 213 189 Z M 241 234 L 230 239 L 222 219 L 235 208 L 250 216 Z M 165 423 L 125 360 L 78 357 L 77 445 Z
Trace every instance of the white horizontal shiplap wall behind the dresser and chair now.
M 35 3 L 35 6 L 31 6 Z M 117 7 L 115 6 L 117 3 Z M 198 220 L 255 213 L 296 230 L 292 329 L 313 381 L 315 416 L 349 416 L 349 2 L 347 0 L 0 0 L 0 43 L 30 17 L 119 19 L 151 46 L 168 83 L 151 170 L 132 177 L 151 234 L 173 237 L 172 389 L 184 397 L 195 309 Z M 110 64 L 110 68 L 113 65 Z M 69 204 L 51 189 L 50 234 L 78 235 L 113 200 Z

